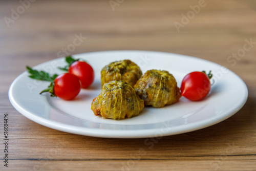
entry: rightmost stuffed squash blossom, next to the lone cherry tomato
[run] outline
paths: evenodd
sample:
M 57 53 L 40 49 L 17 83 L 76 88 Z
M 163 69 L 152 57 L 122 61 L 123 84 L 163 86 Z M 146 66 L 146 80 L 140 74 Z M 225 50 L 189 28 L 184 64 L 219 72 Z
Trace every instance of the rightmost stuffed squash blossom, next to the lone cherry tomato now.
M 147 71 L 135 84 L 134 89 L 145 105 L 152 105 L 154 108 L 173 104 L 181 96 L 174 76 L 168 71 Z

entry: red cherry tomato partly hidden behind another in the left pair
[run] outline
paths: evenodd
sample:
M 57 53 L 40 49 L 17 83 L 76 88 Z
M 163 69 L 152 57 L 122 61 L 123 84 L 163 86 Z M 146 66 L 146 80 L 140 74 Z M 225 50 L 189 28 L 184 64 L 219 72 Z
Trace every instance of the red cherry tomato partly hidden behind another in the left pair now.
M 82 88 L 88 88 L 93 83 L 94 71 L 87 62 L 75 61 L 71 64 L 69 73 L 76 75 L 80 79 Z

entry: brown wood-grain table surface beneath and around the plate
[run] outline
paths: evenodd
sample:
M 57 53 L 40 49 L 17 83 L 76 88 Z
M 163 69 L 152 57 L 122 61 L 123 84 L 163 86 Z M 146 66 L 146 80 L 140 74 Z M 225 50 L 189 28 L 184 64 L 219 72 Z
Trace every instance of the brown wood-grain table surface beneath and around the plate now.
M 0 170 L 256 170 L 254 0 L 22 2 L 0 2 Z M 72 54 L 150 50 L 219 63 L 245 81 L 248 100 L 221 123 L 151 139 L 151 145 L 145 138 L 73 135 L 27 119 L 8 99 L 10 84 L 26 65 L 59 57 L 76 34 L 87 39 Z M 251 43 L 244 47 L 247 40 Z M 8 167 L 3 159 L 6 113 Z

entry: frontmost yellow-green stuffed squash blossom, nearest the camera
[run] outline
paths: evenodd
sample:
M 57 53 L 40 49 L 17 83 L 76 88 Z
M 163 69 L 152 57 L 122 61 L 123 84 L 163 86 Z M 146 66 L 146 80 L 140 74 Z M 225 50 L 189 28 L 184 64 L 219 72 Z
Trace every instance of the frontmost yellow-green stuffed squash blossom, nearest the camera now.
M 112 81 L 104 84 L 100 95 L 93 99 L 91 109 L 96 116 L 119 120 L 139 115 L 144 101 L 130 84 Z

